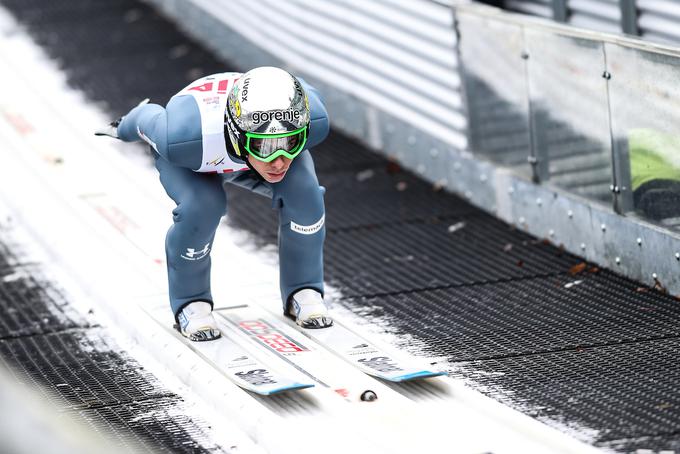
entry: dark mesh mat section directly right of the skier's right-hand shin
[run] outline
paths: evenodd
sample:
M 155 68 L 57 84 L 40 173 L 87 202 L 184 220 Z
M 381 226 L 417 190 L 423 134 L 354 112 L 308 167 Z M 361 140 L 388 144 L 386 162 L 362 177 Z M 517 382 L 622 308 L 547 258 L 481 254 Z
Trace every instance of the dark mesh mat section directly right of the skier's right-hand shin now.
M 580 262 L 481 213 L 332 232 L 325 257 L 327 278 L 345 296 L 546 276 Z

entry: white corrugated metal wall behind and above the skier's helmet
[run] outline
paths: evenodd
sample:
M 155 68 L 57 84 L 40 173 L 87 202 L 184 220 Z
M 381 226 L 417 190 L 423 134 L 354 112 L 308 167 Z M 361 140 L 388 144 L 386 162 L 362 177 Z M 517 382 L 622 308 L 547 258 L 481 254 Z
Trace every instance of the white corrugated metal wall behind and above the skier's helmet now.
M 193 0 L 156 2 L 183 11 L 192 22 L 197 9 L 221 20 L 247 39 L 198 22 L 204 40 L 232 61 L 255 66 L 281 64 L 327 94 L 337 126 L 365 137 L 366 117 L 358 104 L 386 108 L 396 118 L 427 124 L 432 134 L 465 146 L 466 121 L 459 92 L 456 36 L 450 7 L 427 0 Z M 257 14 L 253 14 L 257 11 Z M 262 26 L 267 24 L 267 26 Z M 252 44 L 258 47 L 253 51 Z M 273 57 L 273 58 L 272 58 Z M 340 98 L 335 93 L 341 93 Z M 352 101 L 355 101 L 354 103 Z M 353 104 L 355 106 L 353 106 Z M 353 110 L 352 110 L 353 109 Z M 387 133 L 387 131 L 385 131 Z

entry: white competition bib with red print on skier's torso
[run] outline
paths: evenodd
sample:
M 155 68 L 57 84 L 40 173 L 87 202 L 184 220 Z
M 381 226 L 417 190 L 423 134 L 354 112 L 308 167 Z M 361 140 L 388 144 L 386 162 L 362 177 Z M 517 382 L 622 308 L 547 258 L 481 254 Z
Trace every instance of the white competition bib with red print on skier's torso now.
M 203 133 L 203 160 L 196 172 L 227 173 L 248 170 L 248 167 L 231 160 L 224 140 L 224 112 L 229 92 L 241 73 L 220 73 L 192 82 L 175 96 L 191 95 L 201 114 Z

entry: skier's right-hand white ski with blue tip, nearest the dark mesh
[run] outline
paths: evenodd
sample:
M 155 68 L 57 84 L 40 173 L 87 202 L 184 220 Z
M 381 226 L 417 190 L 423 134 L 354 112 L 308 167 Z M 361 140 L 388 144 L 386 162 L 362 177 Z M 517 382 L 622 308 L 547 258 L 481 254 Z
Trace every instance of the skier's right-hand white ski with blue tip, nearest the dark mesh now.
M 398 383 L 446 375 L 446 372 L 422 367 L 417 361 L 396 358 L 336 319 L 333 326 L 322 329 L 304 329 L 293 321 L 290 323 L 314 342 L 372 377 Z

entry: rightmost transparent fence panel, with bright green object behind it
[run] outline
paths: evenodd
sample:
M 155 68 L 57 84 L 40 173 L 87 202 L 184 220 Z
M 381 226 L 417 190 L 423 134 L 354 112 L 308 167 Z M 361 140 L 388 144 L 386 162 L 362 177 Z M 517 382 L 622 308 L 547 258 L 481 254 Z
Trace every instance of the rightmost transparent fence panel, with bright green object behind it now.
M 680 56 L 605 46 L 617 207 L 680 230 Z

